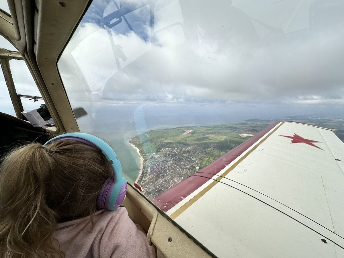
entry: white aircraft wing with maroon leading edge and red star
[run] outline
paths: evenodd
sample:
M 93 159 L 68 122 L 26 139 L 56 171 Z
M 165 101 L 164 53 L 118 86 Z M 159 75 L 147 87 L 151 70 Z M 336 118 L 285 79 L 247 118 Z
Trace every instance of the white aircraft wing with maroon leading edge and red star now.
M 276 122 L 153 199 L 218 257 L 344 257 L 344 143 Z

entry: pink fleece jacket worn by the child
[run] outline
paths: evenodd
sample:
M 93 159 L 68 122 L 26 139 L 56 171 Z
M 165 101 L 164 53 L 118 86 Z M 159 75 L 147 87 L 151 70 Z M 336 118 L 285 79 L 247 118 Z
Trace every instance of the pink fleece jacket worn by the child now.
M 102 209 L 95 219 L 93 230 L 89 217 L 58 224 L 55 238 L 66 258 L 157 257 L 146 233 L 131 221 L 126 208 Z

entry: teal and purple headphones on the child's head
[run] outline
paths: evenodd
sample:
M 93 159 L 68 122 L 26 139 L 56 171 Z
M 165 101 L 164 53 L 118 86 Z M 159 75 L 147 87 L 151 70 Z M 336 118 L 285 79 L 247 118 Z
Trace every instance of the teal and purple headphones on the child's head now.
M 97 205 L 99 208 L 107 208 L 114 211 L 121 205 L 127 192 L 127 180 L 122 175 L 122 166 L 116 158 L 116 153 L 112 148 L 103 140 L 94 135 L 82 132 L 71 132 L 63 135 L 56 136 L 47 141 L 43 145 L 49 144 L 51 141 L 72 140 L 82 142 L 97 150 L 101 150 L 108 161 L 111 162 L 114 175 L 110 176 L 104 183 L 103 187 L 110 186 L 98 194 Z

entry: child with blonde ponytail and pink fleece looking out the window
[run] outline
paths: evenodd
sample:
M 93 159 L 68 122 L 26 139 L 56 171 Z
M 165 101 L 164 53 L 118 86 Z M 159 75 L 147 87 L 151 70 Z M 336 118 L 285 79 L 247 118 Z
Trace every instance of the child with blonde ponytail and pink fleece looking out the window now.
M 113 173 L 75 140 L 11 152 L 0 169 L 0 257 L 156 257 L 124 207 L 96 204 Z

